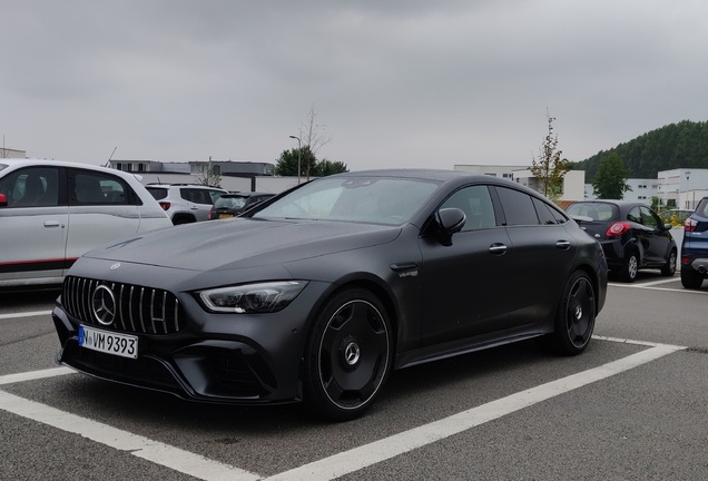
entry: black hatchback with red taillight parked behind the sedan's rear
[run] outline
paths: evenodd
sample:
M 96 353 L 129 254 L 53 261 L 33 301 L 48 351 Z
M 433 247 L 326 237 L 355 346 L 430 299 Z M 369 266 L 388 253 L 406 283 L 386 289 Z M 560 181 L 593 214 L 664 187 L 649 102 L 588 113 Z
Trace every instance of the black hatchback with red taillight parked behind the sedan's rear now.
M 639 269 L 658 268 L 666 276 L 676 273 L 678 249 L 671 225 L 663 224 L 646 204 L 577 202 L 566 213 L 600 243 L 612 276 L 633 282 Z

